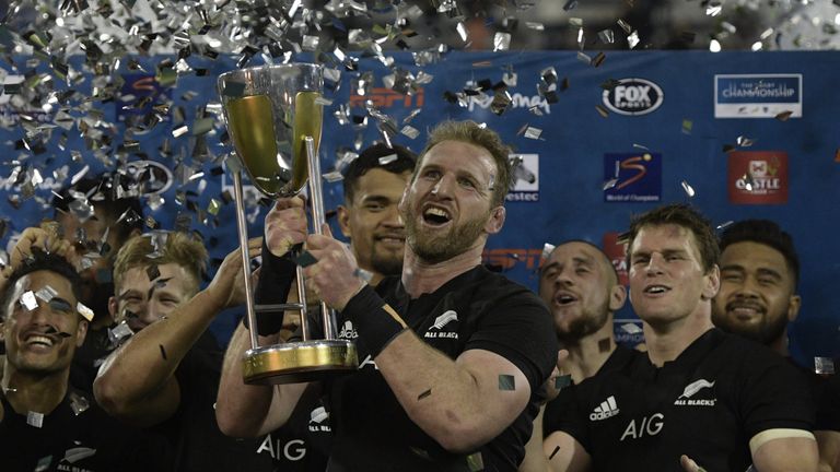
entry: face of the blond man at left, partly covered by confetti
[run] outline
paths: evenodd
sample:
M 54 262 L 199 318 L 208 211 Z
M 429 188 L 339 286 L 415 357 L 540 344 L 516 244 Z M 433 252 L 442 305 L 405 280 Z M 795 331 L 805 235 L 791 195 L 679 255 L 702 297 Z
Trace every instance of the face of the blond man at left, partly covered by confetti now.
M 133 332 L 170 315 L 196 293 L 198 281 L 182 266 L 165 263 L 156 268 L 160 275 L 154 280 L 149 280 L 147 267 L 128 269 L 108 305 L 117 322 L 126 319 Z

